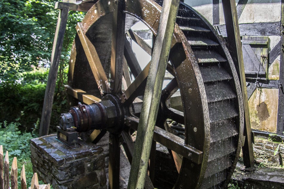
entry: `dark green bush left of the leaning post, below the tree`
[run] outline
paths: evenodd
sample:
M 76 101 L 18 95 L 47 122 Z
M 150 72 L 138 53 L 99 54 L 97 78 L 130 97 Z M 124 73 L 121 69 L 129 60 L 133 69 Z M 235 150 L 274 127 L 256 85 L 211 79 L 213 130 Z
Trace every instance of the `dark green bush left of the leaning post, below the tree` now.
M 10 74 L 0 84 L 0 122 L 21 118 L 24 128 L 31 128 L 41 115 L 48 69 Z

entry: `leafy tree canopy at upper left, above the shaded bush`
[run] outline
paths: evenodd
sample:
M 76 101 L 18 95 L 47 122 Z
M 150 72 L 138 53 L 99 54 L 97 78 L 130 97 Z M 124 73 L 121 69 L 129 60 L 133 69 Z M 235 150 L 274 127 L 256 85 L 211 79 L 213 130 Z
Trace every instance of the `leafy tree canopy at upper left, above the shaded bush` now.
M 59 10 L 55 0 L 2 0 L 0 1 L 0 75 L 32 70 L 34 66 L 48 66 Z M 68 16 L 62 47 L 63 62 L 76 33 L 76 22 L 84 13 Z

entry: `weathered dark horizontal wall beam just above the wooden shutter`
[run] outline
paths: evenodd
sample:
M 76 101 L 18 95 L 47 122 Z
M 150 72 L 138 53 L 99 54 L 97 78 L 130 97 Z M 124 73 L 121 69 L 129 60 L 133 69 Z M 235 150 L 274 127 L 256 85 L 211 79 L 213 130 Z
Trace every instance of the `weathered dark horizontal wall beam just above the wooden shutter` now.
M 227 36 L 225 25 L 215 25 L 217 32 L 223 37 Z M 239 24 L 240 36 L 271 36 L 280 34 L 280 22 L 256 22 Z

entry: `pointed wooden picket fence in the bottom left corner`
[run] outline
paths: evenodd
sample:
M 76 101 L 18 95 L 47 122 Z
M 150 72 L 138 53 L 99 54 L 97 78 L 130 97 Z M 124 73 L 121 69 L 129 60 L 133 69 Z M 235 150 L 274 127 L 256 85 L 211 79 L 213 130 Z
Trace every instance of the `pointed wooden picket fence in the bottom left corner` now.
M 4 164 L 4 167 L 3 167 Z M 4 172 L 4 174 L 3 174 Z M 9 179 L 9 176 L 11 177 Z M 9 174 L 9 154 L 6 151 L 5 158 L 3 154 L 3 146 L 0 145 L 0 189 L 9 189 L 11 181 L 11 189 L 18 189 L 18 165 L 17 158 L 13 158 L 13 162 L 11 165 L 11 173 Z M 27 189 L 27 180 L 26 180 L 26 172 L 25 166 L 23 165 L 21 171 L 21 188 Z M 33 178 L 31 181 L 31 189 L 50 189 L 50 184 L 47 185 L 39 185 L 39 179 L 37 173 L 33 174 Z

